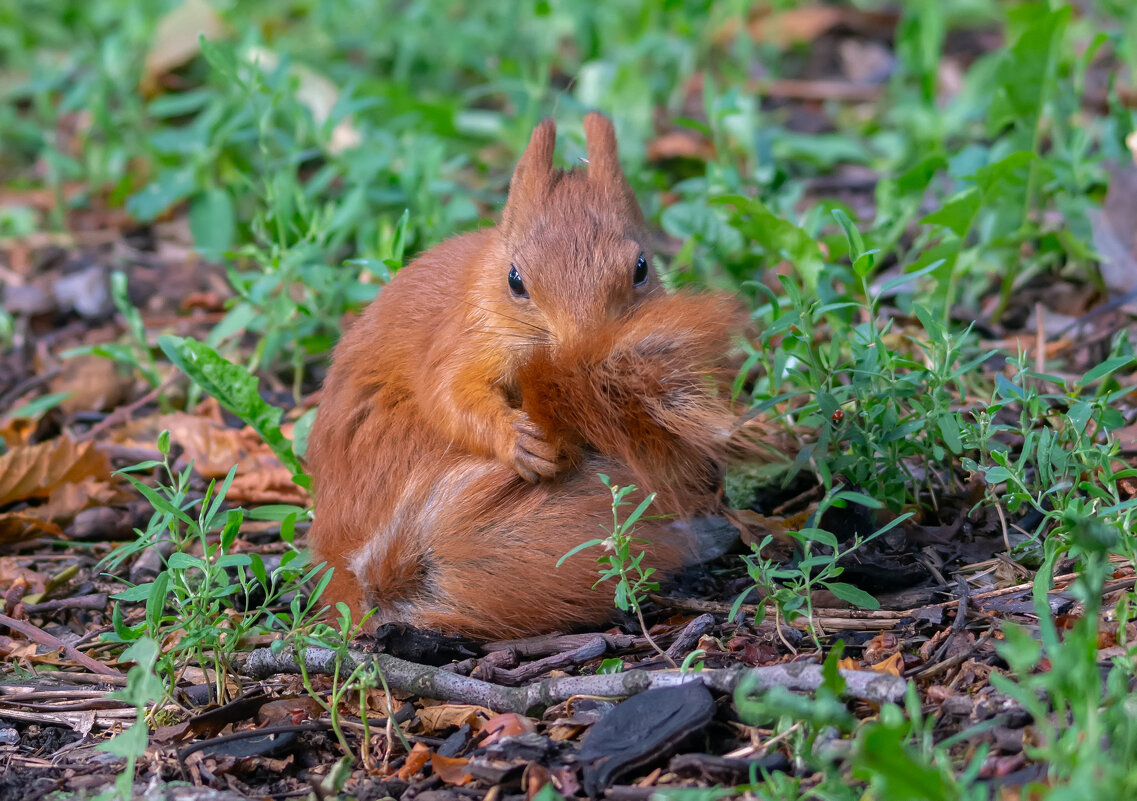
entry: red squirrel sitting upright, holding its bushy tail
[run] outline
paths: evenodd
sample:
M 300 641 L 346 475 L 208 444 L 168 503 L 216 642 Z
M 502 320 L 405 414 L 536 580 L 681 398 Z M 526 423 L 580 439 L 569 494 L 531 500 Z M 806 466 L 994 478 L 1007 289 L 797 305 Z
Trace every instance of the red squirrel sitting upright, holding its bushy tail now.
M 584 118 L 587 167 L 553 166 L 540 123 L 501 223 L 400 270 L 337 346 L 312 430 L 309 544 L 325 601 L 358 620 L 487 638 L 599 622 L 612 496 L 657 499 L 636 536 L 664 573 L 699 561 L 736 416 L 728 296 L 667 292 L 612 122 Z

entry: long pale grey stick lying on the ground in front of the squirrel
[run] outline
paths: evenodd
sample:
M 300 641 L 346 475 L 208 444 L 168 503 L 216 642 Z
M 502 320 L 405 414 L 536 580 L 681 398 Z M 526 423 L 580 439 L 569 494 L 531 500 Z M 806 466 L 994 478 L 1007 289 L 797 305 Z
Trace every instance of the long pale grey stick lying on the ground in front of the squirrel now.
M 703 670 L 694 674 L 675 671 L 647 672 L 629 670 L 622 674 L 598 676 L 563 676 L 547 678 L 524 687 L 503 687 L 468 676 L 425 664 L 415 664 L 390 654 L 371 657 L 391 689 L 412 695 L 424 695 L 439 701 L 475 703 L 498 712 L 525 713 L 537 707 L 551 707 L 574 695 L 628 696 L 656 687 L 674 687 L 688 682 L 703 682 L 721 692 L 733 692 L 744 679 L 753 677 L 755 689 L 781 686 L 798 692 L 812 692 L 821 686 L 821 667 L 807 662 L 791 662 L 764 668 Z M 269 649 L 257 649 L 236 668 L 246 676 L 264 679 L 275 674 L 299 671 L 296 652 L 291 647 L 274 654 Z M 367 654 L 348 652 L 349 670 L 355 669 Z M 305 649 L 305 668 L 309 672 L 331 672 L 335 652 L 327 649 Z M 874 703 L 896 703 L 904 697 L 907 683 L 898 676 L 887 676 L 868 670 L 841 670 L 846 694 Z

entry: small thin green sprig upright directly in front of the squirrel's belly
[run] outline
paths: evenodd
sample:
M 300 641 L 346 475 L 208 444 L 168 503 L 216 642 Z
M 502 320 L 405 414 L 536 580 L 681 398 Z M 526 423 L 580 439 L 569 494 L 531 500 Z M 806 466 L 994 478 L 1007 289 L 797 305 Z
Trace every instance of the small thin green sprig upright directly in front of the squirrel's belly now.
M 637 492 L 636 486 L 616 486 L 612 484 L 612 479 L 604 474 L 600 476 L 600 481 L 603 481 L 604 486 L 612 493 L 612 529 L 608 531 L 608 536 L 581 543 L 562 556 L 557 561 L 557 567 L 559 568 L 564 564 L 566 559 L 580 553 L 581 551 L 603 546 L 608 553 L 605 553 L 596 560 L 599 564 L 604 565 L 604 568 L 600 570 L 600 578 L 598 578 L 596 584 L 592 586 L 597 587 L 604 581 L 616 579 L 616 589 L 613 598 L 616 609 L 622 612 L 632 612 L 639 621 L 640 630 L 644 633 L 644 637 L 647 639 L 648 644 L 655 649 L 656 653 L 663 657 L 667 663 L 675 667 L 671 657 L 669 657 L 663 649 L 661 649 L 656 642 L 652 639 L 652 635 L 647 629 L 647 624 L 644 622 L 644 602 L 647 600 L 648 593 L 654 593 L 659 589 L 659 584 L 652 580 L 652 576 L 655 575 L 655 568 L 644 565 L 644 556 L 647 552 L 642 546 L 650 545 L 652 543 L 640 537 L 636 537 L 634 532 L 636 523 L 639 522 L 640 518 L 642 518 L 644 513 L 647 511 L 647 507 L 652 505 L 653 501 L 655 501 L 655 493 L 652 493 L 640 501 L 639 505 L 632 510 L 628 517 L 621 520 L 620 510 L 623 506 L 631 504 L 628 496 Z M 633 553 L 633 548 L 638 548 L 639 553 Z

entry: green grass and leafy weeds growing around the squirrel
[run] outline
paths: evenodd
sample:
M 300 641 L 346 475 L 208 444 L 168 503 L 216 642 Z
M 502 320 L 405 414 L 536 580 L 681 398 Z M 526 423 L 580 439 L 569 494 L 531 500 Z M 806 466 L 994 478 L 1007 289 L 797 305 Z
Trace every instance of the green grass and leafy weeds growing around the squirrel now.
M 790 107 L 761 101 L 754 75 L 795 77 L 808 46 L 752 40 L 740 24 L 750 3 L 735 0 L 217 3 L 229 33 L 197 48 L 181 35 L 184 63 L 149 74 L 156 32 L 176 5 L 0 0 L 0 191 L 57 199 L 49 210 L 0 209 L 0 237 L 66 230 L 77 208 L 124 208 L 143 224 L 184 217 L 233 290 L 205 341 L 158 341 L 117 278 L 130 333 L 94 353 L 153 387 L 160 368 L 177 365 L 254 424 L 302 482 L 310 418 L 289 441 L 255 377 L 272 373 L 297 397 L 313 389 L 346 312 L 415 253 L 492 218 L 537 121 L 557 118 L 568 164 L 583 152 L 583 112 L 607 110 L 629 177 L 666 237 L 667 280 L 728 288 L 750 304 L 758 333 L 742 372 L 753 380 L 738 389 L 798 440 L 790 473 L 811 476 L 825 503 L 864 496 L 894 520 L 933 518 L 976 486 L 977 509 L 1037 512 L 1024 532 L 1032 547 L 1016 555 L 1041 565 L 1039 634 L 1009 629 L 1009 669 L 994 679 L 1036 719 L 1028 754 L 1047 767 L 1031 798 L 1132 795 L 1137 695 L 1127 677 L 1137 652 L 1122 639 L 1126 654 L 1101 680 L 1095 598 L 1110 554 L 1137 559 L 1137 501 L 1126 489 L 1137 470 L 1114 433 L 1132 419 L 1134 342 L 1122 331 L 1096 366 L 1039 372 L 1023 354 L 985 349 L 969 322 L 1007 323 L 1022 311 L 1016 294 L 1043 278 L 1101 283 L 1092 218 L 1113 165 L 1134 157 L 1126 138 L 1137 115 L 1119 91 L 1137 74 L 1137 7 L 910 0 L 879 101 L 824 102 L 823 130 L 803 133 Z M 946 59 L 952 36 L 976 31 L 1005 44 Z M 957 66 L 958 86 L 945 93 Z M 1103 75 L 1101 106 L 1088 93 Z M 702 96 L 688 94 L 696 79 Z M 704 138 L 713 155 L 647 162 L 657 119 Z M 340 147 L 345 135 L 357 143 Z M 814 190 L 849 166 L 875 177 L 870 204 Z M 13 331 L 0 312 L 0 344 Z M 1007 368 L 990 369 L 993 356 Z M 263 564 L 236 563 L 225 548 L 242 520 L 221 513 L 224 488 L 191 498 L 188 477 L 165 469 L 163 486 L 144 490 L 155 519 L 116 558 L 159 535 L 205 555 L 182 553 L 164 578 L 127 589 L 121 601 L 146 614 L 133 626 L 117 619 L 115 636 L 191 633 L 135 670 L 152 666 L 168 688 L 189 661 L 205 660 L 221 669 L 219 695 L 236 646 L 217 624 L 222 603 L 254 585 L 275 597 L 305 571 L 284 565 L 273 580 Z M 794 536 L 796 565 L 757 551 L 747 560 L 779 613 L 807 614 L 818 585 L 871 601 L 837 580 L 832 535 Z M 1085 606 L 1060 630 L 1045 589 L 1063 559 L 1080 571 Z M 300 621 L 312 610 L 282 622 L 267 603 L 254 604 L 249 627 L 309 636 Z M 1131 594 L 1113 613 L 1124 630 Z M 343 622 L 340 638 L 350 630 Z M 374 682 L 337 677 L 337 697 Z M 141 715 L 157 692 L 127 697 Z M 771 777 L 766 798 L 987 798 L 977 778 L 985 746 L 969 745 L 978 730 L 943 736 L 915 696 L 858 722 L 838 692 L 833 679 L 808 701 L 740 693 L 744 719 L 785 735 L 814 771 L 808 783 Z

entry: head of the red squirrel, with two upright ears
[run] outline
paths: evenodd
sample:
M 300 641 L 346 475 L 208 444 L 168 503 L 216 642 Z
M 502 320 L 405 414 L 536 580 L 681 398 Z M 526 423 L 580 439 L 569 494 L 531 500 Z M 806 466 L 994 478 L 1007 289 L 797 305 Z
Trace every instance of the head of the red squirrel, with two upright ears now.
M 647 226 L 616 152 L 612 121 L 584 117 L 588 166 L 553 166 L 556 126 L 543 121 L 509 183 L 500 248 L 483 291 L 533 339 L 564 342 L 659 291 Z M 540 332 L 538 332 L 540 329 Z

